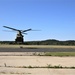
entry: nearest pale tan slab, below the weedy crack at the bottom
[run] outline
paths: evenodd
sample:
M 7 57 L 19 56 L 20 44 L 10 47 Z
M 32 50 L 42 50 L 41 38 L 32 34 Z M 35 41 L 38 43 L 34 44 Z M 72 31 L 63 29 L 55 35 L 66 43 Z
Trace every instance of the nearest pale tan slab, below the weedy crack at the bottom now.
M 75 69 L 0 68 L 0 75 L 75 75 Z

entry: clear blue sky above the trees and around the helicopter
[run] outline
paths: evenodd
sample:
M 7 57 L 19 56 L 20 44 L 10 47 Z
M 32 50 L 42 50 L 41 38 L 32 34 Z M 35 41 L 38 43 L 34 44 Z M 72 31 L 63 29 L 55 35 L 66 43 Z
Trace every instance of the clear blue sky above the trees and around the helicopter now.
M 25 41 L 75 40 L 75 0 L 0 0 L 0 41 L 14 41 L 17 32 L 3 26 L 40 30 Z

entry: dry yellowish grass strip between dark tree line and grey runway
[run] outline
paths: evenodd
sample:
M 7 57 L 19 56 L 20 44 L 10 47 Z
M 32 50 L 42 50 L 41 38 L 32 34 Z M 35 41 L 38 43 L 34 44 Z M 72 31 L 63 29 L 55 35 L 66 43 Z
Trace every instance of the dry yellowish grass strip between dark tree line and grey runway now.
M 73 48 L 75 46 L 65 46 L 65 45 L 6 45 L 0 44 L 0 48 Z

